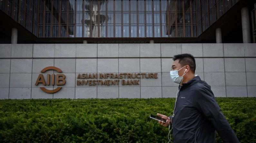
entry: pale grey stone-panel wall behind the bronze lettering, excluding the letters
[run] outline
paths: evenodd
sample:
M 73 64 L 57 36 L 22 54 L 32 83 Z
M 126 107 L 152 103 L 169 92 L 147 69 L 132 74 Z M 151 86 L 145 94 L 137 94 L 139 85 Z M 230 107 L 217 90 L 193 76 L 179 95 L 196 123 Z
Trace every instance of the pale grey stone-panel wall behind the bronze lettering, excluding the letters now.
M 169 72 L 172 56 L 181 53 L 194 55 L 195 74 L 216 97 L 256 96 L 256 44 L 0 44 L 0 99 L 175 97 L 177 84 Z M 51 66 L 62 70 L 66 83 L 35 85 L 39 74 L 45 80 L 59 74 L 41 72 Z M 78 86 L 83 73 L 157 73 L 158 78 L 140 78 L 139 85 L 122 85 L 120 79 L 119 85 Z M 46 93 L 40 87 L 62 89 Z

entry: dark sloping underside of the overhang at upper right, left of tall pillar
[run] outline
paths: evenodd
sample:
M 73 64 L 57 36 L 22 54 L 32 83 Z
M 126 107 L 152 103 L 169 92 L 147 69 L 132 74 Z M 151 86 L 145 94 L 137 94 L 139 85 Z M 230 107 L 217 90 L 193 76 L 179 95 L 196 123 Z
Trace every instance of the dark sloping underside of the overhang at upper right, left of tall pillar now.
M 239 0 L 227 12 L 225 12 L 219 19 L 217 19 L 210 27 L 208 27 L 202 34 L 198 36 L 200 39 L 213 39 L 216 37 L 215 29 L 222 28 L 222 36 L 225 36 L 236 27 L 242 25 L 241 23 L 241 9 L 256 3 L 256 0 Z

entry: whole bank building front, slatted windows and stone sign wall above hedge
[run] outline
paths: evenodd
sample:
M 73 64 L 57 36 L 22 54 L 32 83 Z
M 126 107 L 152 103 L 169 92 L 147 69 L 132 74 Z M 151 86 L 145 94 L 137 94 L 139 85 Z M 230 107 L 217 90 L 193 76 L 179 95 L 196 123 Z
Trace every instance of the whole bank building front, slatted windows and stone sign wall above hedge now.
M 0 1 L 0 99 L 167 98 L 175 54 L 255 97 L 256 0 Z

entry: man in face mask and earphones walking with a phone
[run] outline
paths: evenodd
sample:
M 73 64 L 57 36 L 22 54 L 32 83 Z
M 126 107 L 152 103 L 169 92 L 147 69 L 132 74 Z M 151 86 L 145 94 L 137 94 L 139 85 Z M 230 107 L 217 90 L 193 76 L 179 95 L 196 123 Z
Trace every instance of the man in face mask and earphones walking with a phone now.
M 173 125 L 175 143 L 215 143 L 216 132 L 224 143 L 239 143 L 235 132 L 218 106 L 210 85 L 195 74 L 191 54 L 175 55 L 170 77 L 179 84 L 173 115 L 157 114 Z M 169 126 L 170 127 L 170 126 Z

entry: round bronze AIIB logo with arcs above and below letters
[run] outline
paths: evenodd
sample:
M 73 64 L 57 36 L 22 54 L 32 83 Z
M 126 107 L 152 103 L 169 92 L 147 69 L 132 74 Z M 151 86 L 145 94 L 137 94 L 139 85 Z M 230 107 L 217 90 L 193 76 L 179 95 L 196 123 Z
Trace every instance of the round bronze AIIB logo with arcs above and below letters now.
M 55 70 L 59 73 L 62 73 L 62 70 L 59 68 L 56 68 L 56 67 L 46 67 L 41 70 L 41 73 L 44 73 L 48 70 Z M 64 74 L 56 74 L 56 85 L 64 85 L 66 83 L 65 77 L 66 76 Z M 60 81 L 62 81 L 62 82 L 60 82 Z M 55 84 L 55 74 L 47 74 L 46 80 L 44 79 L 43 74 L 39 74 L 35 85 L 38 85 L 39 83 L 42 83 L 43 85 L 54 85 Z M 40 87 L 40 88 L 42 91 L 44 91 L 46 93 L 55 93 L 62 89 L 62 87 L 57 87 L 56 89 L 53 89 L 53 90 L 48 90 L 44 87 Z

